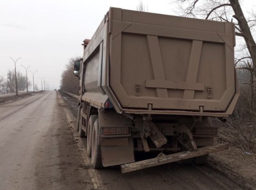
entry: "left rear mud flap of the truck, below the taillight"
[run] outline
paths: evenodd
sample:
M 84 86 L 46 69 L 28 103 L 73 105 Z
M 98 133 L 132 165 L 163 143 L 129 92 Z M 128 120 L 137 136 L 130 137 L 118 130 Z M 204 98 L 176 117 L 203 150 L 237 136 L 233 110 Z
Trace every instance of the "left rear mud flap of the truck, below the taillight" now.
M 121 146 L 115 146 L 115 145 Z M 101 156 L 104 167 L 132 163 L 134 159 L 133 140 L 131 138 L 102 139 Z

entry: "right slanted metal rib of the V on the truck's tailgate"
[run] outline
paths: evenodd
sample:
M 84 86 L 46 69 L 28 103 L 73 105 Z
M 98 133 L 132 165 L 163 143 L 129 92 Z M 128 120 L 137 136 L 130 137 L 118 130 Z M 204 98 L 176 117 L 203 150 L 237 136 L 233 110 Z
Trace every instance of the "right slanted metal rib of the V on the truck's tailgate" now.
M 196 82 L 202 51 L 202 41 L 193 40 L 186 82 Z M 194 99 L 195 90 L 184 90 L 183 99 Z

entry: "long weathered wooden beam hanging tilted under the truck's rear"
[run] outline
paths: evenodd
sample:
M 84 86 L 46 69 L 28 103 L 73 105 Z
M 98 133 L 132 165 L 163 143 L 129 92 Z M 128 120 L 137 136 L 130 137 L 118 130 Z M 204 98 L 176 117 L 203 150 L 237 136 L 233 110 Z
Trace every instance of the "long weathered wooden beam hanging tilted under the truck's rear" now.
M 160 153 L 156 158 L 151 158 L 148 160 L 143 160 L 134 163 L 126 163 L 121 165 L 122 173 L 127 173 L 131 171 L 141 170 L 153 166 L 158 166 L 165 163 L 177 162 L 179 160 L 184 160 L 188 158 L 193 158 L 196 156 L 202 156 L 205 154 L 210 154 L 214 152 L 219 152 L 228 149 L 228 144 L 212 145 L 208 147 L 198 148 L 197 151 L 189 152 L 179 152 L 171 155 L 164 155 Z

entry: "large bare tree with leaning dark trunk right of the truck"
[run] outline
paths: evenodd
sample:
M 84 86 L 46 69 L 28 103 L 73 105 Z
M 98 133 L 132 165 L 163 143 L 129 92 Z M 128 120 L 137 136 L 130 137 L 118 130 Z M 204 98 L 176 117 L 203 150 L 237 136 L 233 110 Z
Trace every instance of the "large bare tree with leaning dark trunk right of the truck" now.
M 249 18 L 245 18 L 238 0 L 175 0 L 178 3 L 180 14 L 185 17 L 210 19 L 225 22 L 234 22 L 236 36 L 239 42 L 236 48 L 235 66 L 239 75 L 245 76 L 240 81 L 240 100 L 249 101 L 248 111 L 253 117 L 255 107 L 255 79 L 256 79 L 256 44 L 253 38 L 256 25 L 256 14 L 251 12 Z M 244 41 L 243 41 L 244 40 Z M 240 70 L 247 70 L 241 72 Z M 245 81 L 246 79 L 246 81 Z M 241 77 L 240 77 L 241 80 Z M 243 104 L 244 105 L 244 104 Z

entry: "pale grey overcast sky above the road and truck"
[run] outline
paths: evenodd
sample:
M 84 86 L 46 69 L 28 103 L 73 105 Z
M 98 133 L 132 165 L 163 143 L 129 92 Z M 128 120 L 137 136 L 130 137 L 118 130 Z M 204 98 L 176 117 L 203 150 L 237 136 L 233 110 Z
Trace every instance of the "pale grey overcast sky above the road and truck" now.
M 254 1 L 244 0 L 244 11 Z M 82 56 L 82 41 L 90 39 L 109 7 L 136 10 L 139 0 L 1 0 L 0 1 L 0 76 L 8 69 L 25 74 L 20 65 L 36 71 L 35 83 L 41 89 L 45 77 L 59 88 L 60 75 L 70 57 Z M 144 0 L 149 12 L 176 15 L 170 0 Z M 32 82 L 32 74 L 28 72 Z

